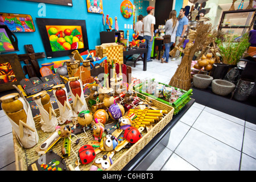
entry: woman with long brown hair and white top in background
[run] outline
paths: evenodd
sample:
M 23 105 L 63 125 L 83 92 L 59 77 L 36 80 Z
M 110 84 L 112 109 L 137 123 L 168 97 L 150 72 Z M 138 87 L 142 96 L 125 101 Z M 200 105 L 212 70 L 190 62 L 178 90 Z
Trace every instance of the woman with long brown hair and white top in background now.
M 164 50 L 163 57 L 161 58 L 161 63 L 168 63 L 170 48 L 172 44 L 175 43 L 177 26 L 179 25 L 179 21 L 176 18 L 176 14 L 176 11 L 172 10 L 170 12 L 169 19 L 166 22 L 166 35 L 171 35 L 171 42 L 164 44 L 166 49 Z M 166 61 L 164 61 L 164 59 L 166 59 Z

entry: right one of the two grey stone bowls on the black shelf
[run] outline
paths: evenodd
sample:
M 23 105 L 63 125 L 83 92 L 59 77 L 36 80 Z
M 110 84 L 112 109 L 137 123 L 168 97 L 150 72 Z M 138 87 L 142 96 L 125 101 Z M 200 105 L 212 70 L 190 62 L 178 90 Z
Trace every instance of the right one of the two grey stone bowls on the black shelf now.
M 215 79 L 212 81 L 212 92 L 220 96 L 226 96 L 236 88 L 230 81 Z

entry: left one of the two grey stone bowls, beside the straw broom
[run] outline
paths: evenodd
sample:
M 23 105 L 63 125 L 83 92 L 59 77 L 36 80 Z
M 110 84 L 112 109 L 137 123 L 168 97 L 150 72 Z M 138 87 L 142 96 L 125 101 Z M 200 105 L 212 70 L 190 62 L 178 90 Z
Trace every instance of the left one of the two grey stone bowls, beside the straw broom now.
M 206 89 L 212 82 L 213 77 L 209 75 L 196 74 L 193 76 L 193 85 L 196 88 Z

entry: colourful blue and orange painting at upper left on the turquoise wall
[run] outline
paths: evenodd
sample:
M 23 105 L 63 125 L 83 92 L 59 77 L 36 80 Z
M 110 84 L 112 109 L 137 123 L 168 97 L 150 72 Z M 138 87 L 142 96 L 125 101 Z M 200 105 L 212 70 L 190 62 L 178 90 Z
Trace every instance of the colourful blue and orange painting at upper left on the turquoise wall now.
M 12 32 L 34 32 L 35 26 L 31 15 L 0 13 L 0 24 L 6 25 Z

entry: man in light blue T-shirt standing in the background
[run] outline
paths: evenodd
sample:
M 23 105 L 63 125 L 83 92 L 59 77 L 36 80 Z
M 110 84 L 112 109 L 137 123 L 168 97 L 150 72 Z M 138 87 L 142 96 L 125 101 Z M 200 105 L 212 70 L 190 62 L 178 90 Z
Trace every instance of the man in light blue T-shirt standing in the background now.
M 186 12 L 186 9 L 184 8 L 180 9 L 179 26 L 177 27 L 177 32 L 176 32 L 176 43 L 175 43 L 176 45 L 178 45 L 181 42 L 181 40 L 184 38 L 185 31 L 187 30 L 187 27 L 188 27 L 188 18 L 187 16 L 185 16 L 185 12 Z M 180 57 L 180 51 L 177 50 L 175 58 L 172 60 L 174 61 L 179 57 Z

